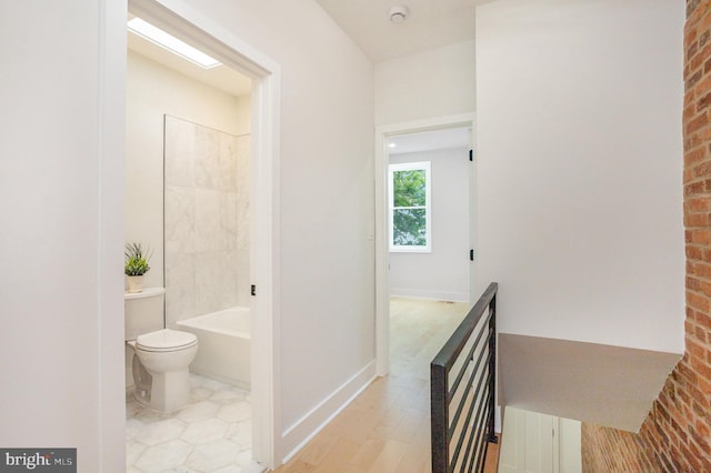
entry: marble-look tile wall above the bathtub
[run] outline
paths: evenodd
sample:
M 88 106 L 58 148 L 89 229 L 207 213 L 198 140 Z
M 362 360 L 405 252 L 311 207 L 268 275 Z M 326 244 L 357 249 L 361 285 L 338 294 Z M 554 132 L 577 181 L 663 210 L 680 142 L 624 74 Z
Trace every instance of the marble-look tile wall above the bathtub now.
M 166 115 L 168 326 L 249 305 L 249 135 Z

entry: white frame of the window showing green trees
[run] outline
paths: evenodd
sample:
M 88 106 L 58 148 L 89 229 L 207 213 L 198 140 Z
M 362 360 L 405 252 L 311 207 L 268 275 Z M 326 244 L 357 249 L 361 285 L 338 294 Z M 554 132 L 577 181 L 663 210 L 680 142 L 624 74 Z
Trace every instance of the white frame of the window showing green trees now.
M 390 251 L 393 253 L 431 253 L 432 252 L 432 172 L 430 161 L 403 162 L 388 165 L 388 227 L 390 232 Z M 393 244 L 394 224 L 394 173 L 397 171 L 424 171 L 424 227 L 427 244 Z M 403 209 L 403 208 L 398 208 Z

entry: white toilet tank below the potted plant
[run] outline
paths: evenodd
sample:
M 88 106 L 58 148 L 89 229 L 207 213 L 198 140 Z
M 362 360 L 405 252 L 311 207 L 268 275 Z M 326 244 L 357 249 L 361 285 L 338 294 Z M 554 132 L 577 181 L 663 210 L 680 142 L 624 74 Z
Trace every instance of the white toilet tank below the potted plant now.
M 163 288 L 146 288 L 139 293 L 124 294 L 126 340 L 136 340 L 140 334 L 164 329 L 164 294 Z

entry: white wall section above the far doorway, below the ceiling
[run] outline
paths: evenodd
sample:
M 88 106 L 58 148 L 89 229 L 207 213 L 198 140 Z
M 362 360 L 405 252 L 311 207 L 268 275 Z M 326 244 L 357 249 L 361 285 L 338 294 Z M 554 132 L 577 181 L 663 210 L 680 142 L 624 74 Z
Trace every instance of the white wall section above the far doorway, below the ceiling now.
M 469 113 L 475 108 L 474 41 L 375 63 L 378 125 Z

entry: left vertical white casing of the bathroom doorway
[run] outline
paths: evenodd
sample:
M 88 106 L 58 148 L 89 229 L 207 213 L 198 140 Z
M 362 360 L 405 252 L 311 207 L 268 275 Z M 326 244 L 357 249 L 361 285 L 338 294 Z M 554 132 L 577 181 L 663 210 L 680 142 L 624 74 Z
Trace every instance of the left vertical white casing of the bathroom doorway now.
M 99 175 L 97 336 L 99 472 L 126 471 L 123 197 L 126 162 L 126 0 L 101 0 L 98 29 Z M 119 21 L 120 20 L 120 21 Z M 93 411 L 91 411 L 93 412 Z M 91 415 L 91 414 L 89 414 Z M 90 466 L 89 466 L 90 467 Z

